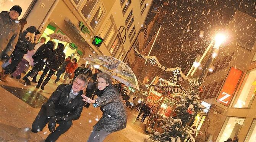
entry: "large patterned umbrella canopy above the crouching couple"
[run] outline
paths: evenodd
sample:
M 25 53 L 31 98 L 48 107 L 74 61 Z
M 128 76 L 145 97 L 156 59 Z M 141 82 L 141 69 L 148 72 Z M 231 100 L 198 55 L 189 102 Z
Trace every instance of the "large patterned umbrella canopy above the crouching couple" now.
M 122 61 L 110 56 L 92 56 L 84 58 L 90 65 L 95 68 L 108 73 L 112 78 L 122 82 L 128 87 L 133 87 L 139 90 L 139 84 L 136 76 L 131 68 Z

